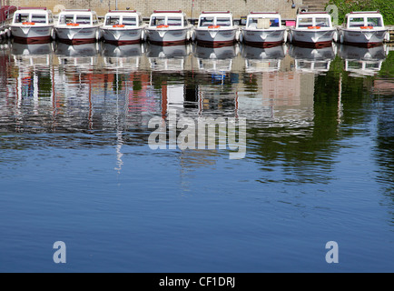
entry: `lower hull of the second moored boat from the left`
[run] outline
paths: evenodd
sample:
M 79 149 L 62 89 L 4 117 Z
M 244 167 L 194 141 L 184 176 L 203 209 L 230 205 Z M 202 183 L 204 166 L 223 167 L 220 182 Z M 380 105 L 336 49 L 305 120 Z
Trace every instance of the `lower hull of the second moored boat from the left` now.
M 87 44 L 97 40 L 98 26 L 89 27 L 54 27 L 56 37 L 64 43 Z

